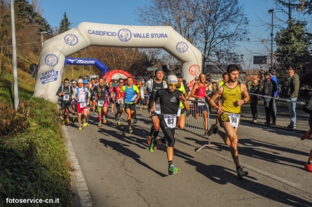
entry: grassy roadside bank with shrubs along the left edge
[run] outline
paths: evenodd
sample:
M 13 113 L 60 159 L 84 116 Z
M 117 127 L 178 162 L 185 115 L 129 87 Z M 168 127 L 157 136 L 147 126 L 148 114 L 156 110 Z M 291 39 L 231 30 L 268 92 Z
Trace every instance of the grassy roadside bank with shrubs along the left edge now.
M 32 98 L 35 80 L 19 69 L 18 110 L 13 74 L 0 75 L 0 206 L 71 206 L 70 165 L 60 130 L 59 109 Z M 55 199 L 59 204 L 7 204 L 6 198 Z

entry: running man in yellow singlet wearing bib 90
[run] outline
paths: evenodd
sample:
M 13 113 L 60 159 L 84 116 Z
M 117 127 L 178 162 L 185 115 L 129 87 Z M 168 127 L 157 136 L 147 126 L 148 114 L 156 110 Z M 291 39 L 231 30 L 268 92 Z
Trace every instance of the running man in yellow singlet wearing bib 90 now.
M 238 81 L 239 68 L 236 65 L 227 67 L 229 81 L 219 87 L 214 96 L 209 100 L 212 107 L 217 110 L 220 126 L 224 132 L 218 130 L 218 126 L 213 124 L 208 131 L 208 135 L 218 134 L 227 146 L 231 147 L 231 154 L 236 166 L 237 177 L 248 175 L 248 172 L 240 166 L 238 160 L 238 137 L 237 128 L 240 121 L 241 105 L 250 100 L 247 87 Z M 215 100 L 221 96 L 221 106 L 215 104 Z

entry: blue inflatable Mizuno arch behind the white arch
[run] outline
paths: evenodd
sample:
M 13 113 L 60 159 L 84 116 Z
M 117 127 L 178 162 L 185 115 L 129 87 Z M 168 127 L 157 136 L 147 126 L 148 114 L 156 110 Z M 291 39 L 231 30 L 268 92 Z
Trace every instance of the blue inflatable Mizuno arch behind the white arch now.
M 109 69 L 104 65 L 99 59 L 94 58 L 74 58 L 74 57 L 66 57 L 64 66 L 66 65 L 80 65 L 80 66 L 96 66 L 98 69 L 102 71 L 102 75 L 107 73 Z

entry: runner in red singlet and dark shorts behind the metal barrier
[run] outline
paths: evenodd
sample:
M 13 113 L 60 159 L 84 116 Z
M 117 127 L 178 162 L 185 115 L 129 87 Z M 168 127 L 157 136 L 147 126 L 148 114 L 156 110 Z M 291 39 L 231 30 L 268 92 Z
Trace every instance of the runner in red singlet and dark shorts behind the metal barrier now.
M 206 93 L 206 75 L 204 73 L 201 73 L 199 75 L 199 82 L 193 86 L 191 97 L 196 98 L 197 101 L 203 102 L 203 103 L 197 103 L 196 108 L 196 119 L 198 119 L 199 112 L 203 113 L 204 118 L 204 128 L 205 128 L 205 136 L 208 133 L 208 109 L 207 105 L 205 104 L 205 98 L 207 97 Z

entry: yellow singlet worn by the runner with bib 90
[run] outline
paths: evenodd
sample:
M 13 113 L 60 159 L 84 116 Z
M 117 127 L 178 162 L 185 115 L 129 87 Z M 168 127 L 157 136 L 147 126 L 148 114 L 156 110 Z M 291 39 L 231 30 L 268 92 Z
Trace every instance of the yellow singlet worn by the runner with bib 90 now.
M 225 112 L 240 114 L 240 105 L 236 102 L 242 99 L 242 91 L 240 88 L 240 82 L 234 88 L 229 88 L 226 84 L 223 84 L 223 93 L 221 96 L 221 107 Z

